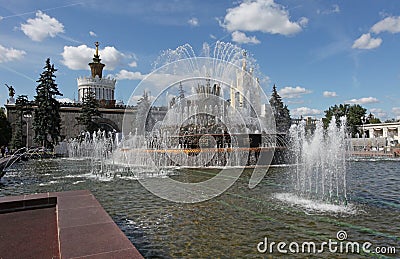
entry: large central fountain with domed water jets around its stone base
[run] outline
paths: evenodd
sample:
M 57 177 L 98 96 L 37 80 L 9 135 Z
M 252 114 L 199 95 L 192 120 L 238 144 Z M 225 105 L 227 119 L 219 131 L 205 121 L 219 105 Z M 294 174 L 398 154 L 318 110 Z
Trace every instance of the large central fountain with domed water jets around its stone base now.
M 116 161 L 156 170 L 270 164 L 275 121 L 256 78 L 255 60 L 224 42 L 217 42 L 214 51 L 204 44 L 202 53 L 196 56 L 185 44 L 156 60 L 128 105 L 137 105 L 137 93 L 158 95 L 138 105 L 136 114 L 125 113 L 122 131 L 128 137 L 115 152 Z M 165 106 L 165 115 L 155 120 L 154 111 Z

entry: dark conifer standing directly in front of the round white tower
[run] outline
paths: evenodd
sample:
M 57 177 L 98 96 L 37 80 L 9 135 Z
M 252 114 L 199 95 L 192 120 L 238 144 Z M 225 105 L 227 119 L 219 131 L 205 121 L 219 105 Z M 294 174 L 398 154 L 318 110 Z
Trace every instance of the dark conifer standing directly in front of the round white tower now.
M 101 116 L 99 102 L 96 100 L 96 93 L 94 91 L 86 92 L 82 97 L 81 114 L 79 117 L 76 117 L 78 124 L 84 125 L 86 131 L 93 133 L 99 129 L 99 125 L 95 122 L 95 119 Z

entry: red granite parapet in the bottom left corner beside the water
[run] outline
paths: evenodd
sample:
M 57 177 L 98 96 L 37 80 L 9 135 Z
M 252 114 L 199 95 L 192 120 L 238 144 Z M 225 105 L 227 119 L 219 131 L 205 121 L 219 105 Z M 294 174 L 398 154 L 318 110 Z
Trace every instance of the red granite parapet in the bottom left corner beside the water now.
M 0 258 L 143 258 L 88 190 L 0 197 Z

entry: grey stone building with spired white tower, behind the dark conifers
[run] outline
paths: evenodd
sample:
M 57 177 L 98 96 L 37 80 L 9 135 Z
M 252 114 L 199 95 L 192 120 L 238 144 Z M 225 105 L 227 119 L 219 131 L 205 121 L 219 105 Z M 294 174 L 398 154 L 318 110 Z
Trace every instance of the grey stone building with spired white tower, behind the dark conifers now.
M 114 92 L 117 81 L 113 78 L 103 78 L 102 74 L 105 64 L 100 62 L 98 42 L 95 43 L 95 46 L 96 52 L 93 62 L 89 63 L 91 75 L 77 79 L 79 93 L 78 102 L 60 103 L 61 140 L 75 138 L 84 131 L 84 126 L 78 124 L 77 117 L 79 117 L 81 113 L 82 98 L 88 91 L 96 93 L 96 99 L 100 104 L 99 111 L 102 117 L 96 118 L 95 122 L 101 129 L 112 132 L 122 132 L 125 118 L 125 125 L 129 125 L 129 127 L 126 127 L 126 131 L 128 132 L 124 133 L 129 134 L 130 129 L 134 130 L 137 107 L 116 104 Z M 15 122 L 20 120 L 20 118 L 18 117 L 18 110 L 13 97 L 10 96 L 5 107 L 7 110 L 7 119 L 10 121 L 14 132 L 16 130 Z M 31 108 L 34 109 L 35 106 Z M 152 109 L 152 116 L 155 120 L 162 120 L 165 113 L 166 107 L 156 107 Z M 125 114 L 129 116 L 125 116 Z M 34 116 L 34 113 L 32 113 L 22 118 L 22 141 L 29 147 L 37 145 L 33 140 L 35 135 L 33 129 Z

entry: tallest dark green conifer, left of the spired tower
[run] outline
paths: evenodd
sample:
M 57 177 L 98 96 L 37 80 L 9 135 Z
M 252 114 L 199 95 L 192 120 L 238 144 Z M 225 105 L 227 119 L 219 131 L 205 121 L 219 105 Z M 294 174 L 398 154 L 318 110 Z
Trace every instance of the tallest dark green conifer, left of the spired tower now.
M 36 81 L 35 118 L 33 128 L 35 141 L 46 148 L 53 148 L 60 140 L 61 116 L 60 103 L 55 99 L 56 95 L 62 96 L 55 82 L 54 64 L 50 64 L 50 58 L 46 60 L 44 71 Z

